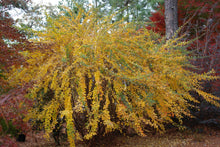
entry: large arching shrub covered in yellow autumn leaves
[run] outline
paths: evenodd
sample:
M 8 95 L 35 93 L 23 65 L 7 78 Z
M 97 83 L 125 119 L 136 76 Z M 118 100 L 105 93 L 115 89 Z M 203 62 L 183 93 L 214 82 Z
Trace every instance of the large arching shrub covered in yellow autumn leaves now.
M 195 90 L 213 104 L 219 98 L 201 90 L 201 80 L 214 80 L 186 68 L 186 42 L 166 43 L 157 34 L 135 29 L 135 24 L 97 19 L 91 9 L 71 17 L 48 19 L 40 41 L 50 48 L 27 52 L 28 65 L 14 69 L 11 83 L 34 83 L 30 96 L 37 99 L 31 117 L 44 121 L 50 133 L 58 114 L 67 119 L 68 139 L 74 146 L 76 119 L 81 116 L 84 139 L 91 139 L 103 126 L 105 133 L 130 126 L 144 135 L 146 125 L 164 131 L 164 123 L 181 122 L 190 116 L 190 102 L 198 102 Z M 36 42 L 38 42 L 36 40 Z M 45 93 L 53 91 L 49 100 Z M 44 93 L 44 94 L 40 94 Z M 40 109 L 41 108 L 41 109 Z M 52 120 L 52 122 L 51 122 Z

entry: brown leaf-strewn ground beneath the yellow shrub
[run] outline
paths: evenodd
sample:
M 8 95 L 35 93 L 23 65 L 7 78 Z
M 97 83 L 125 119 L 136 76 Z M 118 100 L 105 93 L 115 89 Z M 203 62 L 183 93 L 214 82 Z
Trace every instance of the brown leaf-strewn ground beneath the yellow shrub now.
M 202 128 L 203 129 L 203 128 Z M 168 131 L 163 135 L 149 135 L 146 137 L 113 136 L 107 140 L 98 141 L 97 147 L 220 147 L 220 130 L 204 129 L 203 132 L 189 130 Z M 28 134 L 26 141 L 18 143 L 19 147 L 55 147 L 53 139 L 46 140 L 43 132 Z M 67 142 L 62 142 L 61 147 L 68 147 Z M 77 147 L 86 147 L 78 143 Z

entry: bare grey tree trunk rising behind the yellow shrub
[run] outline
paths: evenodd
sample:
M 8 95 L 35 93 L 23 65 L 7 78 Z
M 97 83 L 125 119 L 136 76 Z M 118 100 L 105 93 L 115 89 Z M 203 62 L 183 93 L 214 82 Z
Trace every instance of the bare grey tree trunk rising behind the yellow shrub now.
M 174 36 L 178 29 L 178 0 L 165 0 L 165 23 L 166 23 L 166 39 L 169 40 Z

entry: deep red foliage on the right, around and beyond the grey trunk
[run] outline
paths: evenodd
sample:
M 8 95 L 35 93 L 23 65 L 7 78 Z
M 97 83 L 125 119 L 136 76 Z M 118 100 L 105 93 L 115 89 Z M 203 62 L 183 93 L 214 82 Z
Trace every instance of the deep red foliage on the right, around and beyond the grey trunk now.
M 153 26 L 147 26 L 162 35 L 165 35 L 165 15 L 164 6 L 160 5 L 158 11 L 152 13 L 150 20 L 154 22 Z M 192 51 L 191 63 L 196 65 L 194 72 L 204 73 L 212 69 L 216 75 L 220 75 L 220 3 L 215 0 L 185 0 L 178 1 L 178 23 L 181 28 L 180 35 L 185 35 L 185 40 L 192 40 L 193 43 L 188 46 Z M 187 22 L 187 23 L 186 23 Z M 204 90 L 220 96 L 220 80 L 205 81 Z M 195 93 L 194 93 L 195 94 Z M 195 94 L 196 95 L 196 94 Z M 201 120 L 216 119 L 219 117 L 219 109 L 204 102 L 204 99 L 196 95 L 197 99 L 202 102 L 200 112 L 196 115 Z M 194 121 L 195 122 L 195 121 Z M 211 122 L 211 121 L 210 121 Z M 213 123 L 217 123 L 213 122 Z

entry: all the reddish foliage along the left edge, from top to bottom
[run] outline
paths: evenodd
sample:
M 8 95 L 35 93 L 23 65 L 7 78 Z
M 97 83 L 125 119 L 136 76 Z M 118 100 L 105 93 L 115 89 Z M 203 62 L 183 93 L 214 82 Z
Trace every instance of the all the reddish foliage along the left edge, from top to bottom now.
M 25 60 L 20 52 L 26 50 L 30 45 L 25 34 L 22 34 L 14 27 L 16 21 L 10 15 L 9 10 L 18 8 L 26 11 L 28 9 L 28 1 L 29 0 L 0 1 L 0 135 L 3 136 L 11 134 L 9 130 L 12 126 L 10 124 L 22 133 L 28 130 L 27 124 L 23 121 L 28 106 L 31 104 L 31 102 L 24 97 L 28 86 L 11 88 L 11 90 L 8 91 L 9 84 L 7 83 L 7 77 L 5 75 L 11 66 L 24 65 Z M 9 145 L 10 140 L 7 136 L 3 139 L 3 142 L 5 141 L 6 144 Z

